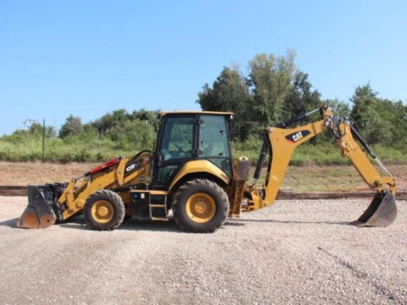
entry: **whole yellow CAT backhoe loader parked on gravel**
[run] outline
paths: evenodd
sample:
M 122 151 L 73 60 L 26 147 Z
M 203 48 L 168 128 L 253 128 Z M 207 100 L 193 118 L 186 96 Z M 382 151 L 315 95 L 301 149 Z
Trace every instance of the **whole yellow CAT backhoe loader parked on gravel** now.
M 317 120 L 288 128 L 310 115 Z M 240 217 L 274 203 L 292 152 L 310 138 L 329 130 L 342 156 L 350 159 L 377 194 L 356 221 L 387 226 L 396 218 L 395 180 L 357 132 L 350 118 L 337 118 L 327 104 L 265 128 L 264 143 L 248 184 L 251 162 L 232 159 L 228 121 L 233 114 L 210 111 L 160 112 L 153 151 L 132 158 L 117 157 L 70 182 L 28 187 L 28 206 L 17 226 L 46 228 L 82 213 L 89 227 L 112 230 L 126 215 L 136 220 L 168 221 L 186 231 L 213 232 L 229 217 Z M 373 167 L 365 152 L 385 175 Z M 137 140 L 137 139 L 134 139 Z M 265 183 L 257 184 L 268 154 Z

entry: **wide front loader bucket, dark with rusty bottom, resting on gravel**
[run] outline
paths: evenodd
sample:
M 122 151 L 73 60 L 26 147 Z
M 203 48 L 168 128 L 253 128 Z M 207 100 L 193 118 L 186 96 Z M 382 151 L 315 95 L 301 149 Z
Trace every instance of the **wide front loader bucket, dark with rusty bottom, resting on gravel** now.
M 28 186 L 28 206 L 17 220 L 19 228 L 48 228 L 56 221 L 55 193 L 50 185 Z

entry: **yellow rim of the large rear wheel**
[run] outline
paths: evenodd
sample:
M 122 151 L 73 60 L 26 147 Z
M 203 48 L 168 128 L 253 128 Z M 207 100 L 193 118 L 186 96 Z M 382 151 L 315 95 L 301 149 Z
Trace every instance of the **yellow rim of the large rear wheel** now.
M 204 223 L 210 221 L 215 215 L 216 204 L 210 195 L 196 193 L 188 198 L 185 209 L 189 219 L 197 223 Z

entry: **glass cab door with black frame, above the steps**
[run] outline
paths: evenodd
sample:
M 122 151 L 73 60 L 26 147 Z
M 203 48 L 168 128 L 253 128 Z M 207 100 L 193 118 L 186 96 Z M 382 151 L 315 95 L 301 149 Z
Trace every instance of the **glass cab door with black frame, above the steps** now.
M 185 162 L 196 156 L 196 115 L 167 115 L 155 152 L 154 189 L 166 189 Z

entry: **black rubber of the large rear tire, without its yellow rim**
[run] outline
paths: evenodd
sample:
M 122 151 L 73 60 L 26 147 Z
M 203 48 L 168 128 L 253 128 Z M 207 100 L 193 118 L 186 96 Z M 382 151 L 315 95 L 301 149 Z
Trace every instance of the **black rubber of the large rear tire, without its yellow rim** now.
M 188 200 L 198 193 L 209 195 L 216 207 L 212 218 L 203 223 L 192 220 L 186 211 Z M 216 231 L 225 222 L 229 214 L 229 198 L 217 183 L 208 179 L 193 179 L 179 187 L 171 207 L 175 222 L 180 228 L 188 232 L 208 233 Z

